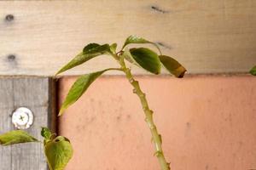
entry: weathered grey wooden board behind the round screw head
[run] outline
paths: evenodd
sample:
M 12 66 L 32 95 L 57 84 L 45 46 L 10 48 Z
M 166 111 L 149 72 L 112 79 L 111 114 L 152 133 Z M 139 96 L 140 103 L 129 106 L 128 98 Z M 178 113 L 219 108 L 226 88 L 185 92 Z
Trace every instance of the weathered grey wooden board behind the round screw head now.
M 51 126 L 54 121 L 54 107 L 51 88 L 52 80 L 40 77 L 2 77 L 0 78 L 0 133 L 15 129 L 11 122 L 12 112 L 20 106 L 29 108 L 34 115 L 32 127 L 27 129 L 37 139 L 41 127 Z M 38 143 L 15 144 L 0 147 L 0 169 L 11 170 L 46 170 L 43 145 Z

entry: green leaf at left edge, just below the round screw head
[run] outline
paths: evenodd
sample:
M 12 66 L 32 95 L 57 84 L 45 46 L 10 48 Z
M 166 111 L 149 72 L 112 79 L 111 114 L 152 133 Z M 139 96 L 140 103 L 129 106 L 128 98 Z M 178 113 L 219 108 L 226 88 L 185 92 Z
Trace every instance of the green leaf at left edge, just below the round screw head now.
M 38 142 L 38 139 L 35 139 L 23 130 L 14 130 L 0 135 L 0 144 L 3 145 L 20 144 L 27 142 Z

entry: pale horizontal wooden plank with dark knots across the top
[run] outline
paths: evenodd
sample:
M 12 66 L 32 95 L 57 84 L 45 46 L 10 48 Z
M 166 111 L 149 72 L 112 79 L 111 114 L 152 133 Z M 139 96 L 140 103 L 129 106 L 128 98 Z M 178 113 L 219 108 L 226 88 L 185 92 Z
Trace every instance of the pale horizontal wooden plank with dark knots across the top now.
M 85 44 L 131 34 L 159 42 L 189 73 L 247 72 L 256 63 L 255 11 L 251 0 L 1 1 L 0 74 L 52 76 Z M 109 66 L 102 57 L 65 74 Z

